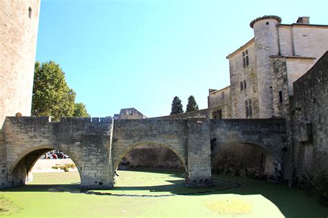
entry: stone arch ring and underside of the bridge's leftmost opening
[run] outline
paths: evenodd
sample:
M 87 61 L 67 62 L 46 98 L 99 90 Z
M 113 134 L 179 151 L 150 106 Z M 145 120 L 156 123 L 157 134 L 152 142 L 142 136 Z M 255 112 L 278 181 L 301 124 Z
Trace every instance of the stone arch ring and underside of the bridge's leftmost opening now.
M 69 150 L 63 149 L 62 147 L 58 149 L 55 146 L 45 145 L 45 146 L 36 146 L 36 147 L 28 148 L 18 154 L 18 157 L 15 158 L 15 161 L 12 162 L 9 168 L 9 175 L 12 176 L 12 185 L 17 186 L 20 184 L 25 184 L 25 181 L 23 181 L 24 179 L 23 177 L 28 177 L 30 170 L 32 170 L 37 160 L 42 155 L 44 155 L 45 152 L 48 152 L 50 150 L 60 150 L 62 152 L 65 152 L 67 155 L 69 155 L 69 157 L 74 162 L 76 168 L 78 168 L 78 172 L 81 179 L 82 170 L 81 170 L 80 163 L 77 161 L 77 159 L 75 159 L 73 154 L 69 152 Z M 21 172 L 22 167 L 24 167 L 24 170 Z

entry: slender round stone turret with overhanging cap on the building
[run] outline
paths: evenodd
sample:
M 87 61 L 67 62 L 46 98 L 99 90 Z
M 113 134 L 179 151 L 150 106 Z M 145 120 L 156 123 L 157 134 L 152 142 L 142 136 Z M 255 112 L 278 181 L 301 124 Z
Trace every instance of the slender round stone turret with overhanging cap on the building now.
M 277 25 L 281 21 L 277 16 L 263 16 L 250 22 L 250 27 L 254 29 L 259 118 L 274 115 L 270 56 L 280 53 Z

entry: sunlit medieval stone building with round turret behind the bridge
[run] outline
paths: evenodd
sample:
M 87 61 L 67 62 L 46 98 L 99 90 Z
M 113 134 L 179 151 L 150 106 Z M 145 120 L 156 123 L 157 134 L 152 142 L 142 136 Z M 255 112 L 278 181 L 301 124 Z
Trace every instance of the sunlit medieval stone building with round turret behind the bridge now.
M 328 50 L 328 26 L 310 24 L 309 17 L 281 21 L 264 16 L 250 22 L 254 38 L 227 57 L 230 86 L 210 90 L 212 117 L 286 117 L 293 82 Z

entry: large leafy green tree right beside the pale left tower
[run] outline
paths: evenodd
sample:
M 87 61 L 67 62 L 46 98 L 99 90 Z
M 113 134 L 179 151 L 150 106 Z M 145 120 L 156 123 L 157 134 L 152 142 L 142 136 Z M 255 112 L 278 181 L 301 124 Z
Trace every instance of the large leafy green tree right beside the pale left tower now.
M 73 116 L 75 92 L 66 83 L 65 74 L 54 61 L 35 63 L 31 114 L 60 117 Z

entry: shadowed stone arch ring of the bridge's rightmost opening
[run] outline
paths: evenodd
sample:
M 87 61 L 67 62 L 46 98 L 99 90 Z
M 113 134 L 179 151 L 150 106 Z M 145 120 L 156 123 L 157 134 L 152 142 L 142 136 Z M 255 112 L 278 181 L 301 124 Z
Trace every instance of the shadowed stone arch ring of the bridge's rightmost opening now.
M 222 148 L 228 148 L 229 146 L 233 145 L 249 145 L 253 146 L 254 148 L 259 149 L 259 151 L 264 152 L 265 157 L 270 161 L 270 163 L 273 166 L 273 174 L 274 174 L 274 179 L 277 179 L 278 177 L 281 177 L 282 175 L 282 159 L 275 154 L 273 150 L 271 150 L 271 147 L 274 147 L 272 145 L 265 145 L 263 142 L 260 141 L 253 141 L 250 139 L 232 139 L 223 143 L 219 143 L 219 148 L 217 148 L 217 152 L 215 153 L 213 159 L 218 159 L 219 156 L 219 151 Z M 271 175 L 272 176 L 272 175 Z

